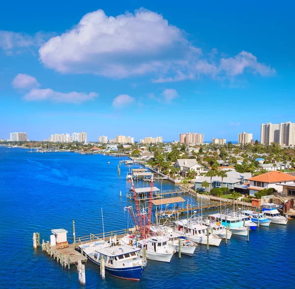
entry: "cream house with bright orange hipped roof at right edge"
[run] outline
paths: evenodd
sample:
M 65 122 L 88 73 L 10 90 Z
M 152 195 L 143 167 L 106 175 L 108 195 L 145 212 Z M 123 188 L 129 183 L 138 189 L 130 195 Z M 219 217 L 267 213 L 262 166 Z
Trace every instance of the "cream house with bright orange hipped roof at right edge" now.
M 248 178 L 248 181 L 250 182 L 248 187 L 249 194 L 254 196 L 255 193 L 269 188 L 274 188 L 276 191 L 280 192 L 282 191 L 282 184 L 295 183 L 295 176 L 288 173 L 273 171 Z

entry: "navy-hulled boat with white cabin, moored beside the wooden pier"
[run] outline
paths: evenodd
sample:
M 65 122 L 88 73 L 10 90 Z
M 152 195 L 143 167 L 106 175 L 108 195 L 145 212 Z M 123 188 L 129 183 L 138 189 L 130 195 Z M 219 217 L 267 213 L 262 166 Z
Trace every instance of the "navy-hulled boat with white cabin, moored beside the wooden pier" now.
M 140 249 L 124 244 L 113 238 L 113 242 L 103 240 L 79 245 L 87 258 L 100 267 L 105 261 L 105 271 L 120 279 L 139 281 L 147 265 L 147 260 L 140 258 Z

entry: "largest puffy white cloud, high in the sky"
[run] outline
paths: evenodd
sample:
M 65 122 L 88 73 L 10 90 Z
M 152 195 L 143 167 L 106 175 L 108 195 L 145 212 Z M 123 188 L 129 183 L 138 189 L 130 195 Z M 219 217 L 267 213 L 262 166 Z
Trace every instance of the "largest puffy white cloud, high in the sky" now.
M 200 53 L 157 13 L 139 9 L 108 17 L 97 10 L 42 45 L 39 56 L 45 66 L 62 73 L 126 77 L 165 70 L 171 58 L 184 57 L 184 50 Z

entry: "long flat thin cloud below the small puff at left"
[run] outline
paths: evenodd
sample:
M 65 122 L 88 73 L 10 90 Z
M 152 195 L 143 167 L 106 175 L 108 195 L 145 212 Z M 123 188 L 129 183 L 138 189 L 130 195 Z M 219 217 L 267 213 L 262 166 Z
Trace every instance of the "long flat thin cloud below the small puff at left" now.
M 59 91 L 54 91 L 51 88 L 46 89 L 31 89 L 27 94 L 24 95 L 24 100 L 27 101 L 41 101 L 41 100 L 51 100 L 54 102 L 67 102 L 67 103 L 82 103 L 87 100 L 93 100 L 98 94 L 95 92 L 84 93 L 84 92 L 69 92 L 63 93 Z

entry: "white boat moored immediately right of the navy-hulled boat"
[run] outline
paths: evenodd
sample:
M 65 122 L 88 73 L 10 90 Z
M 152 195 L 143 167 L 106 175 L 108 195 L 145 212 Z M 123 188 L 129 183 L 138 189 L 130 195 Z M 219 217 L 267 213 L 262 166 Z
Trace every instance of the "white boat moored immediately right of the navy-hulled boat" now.
M 137 240 L 136 235 L 127 234 L 122 238 L 126 244 L 134 244 L 140 249 L 143 256 L 143 249 L 146 248 L 147 259 L 161 262 L 170 262 L 176 250 L 168 243 L 169 238 L 165 236 L 151 236 Z

